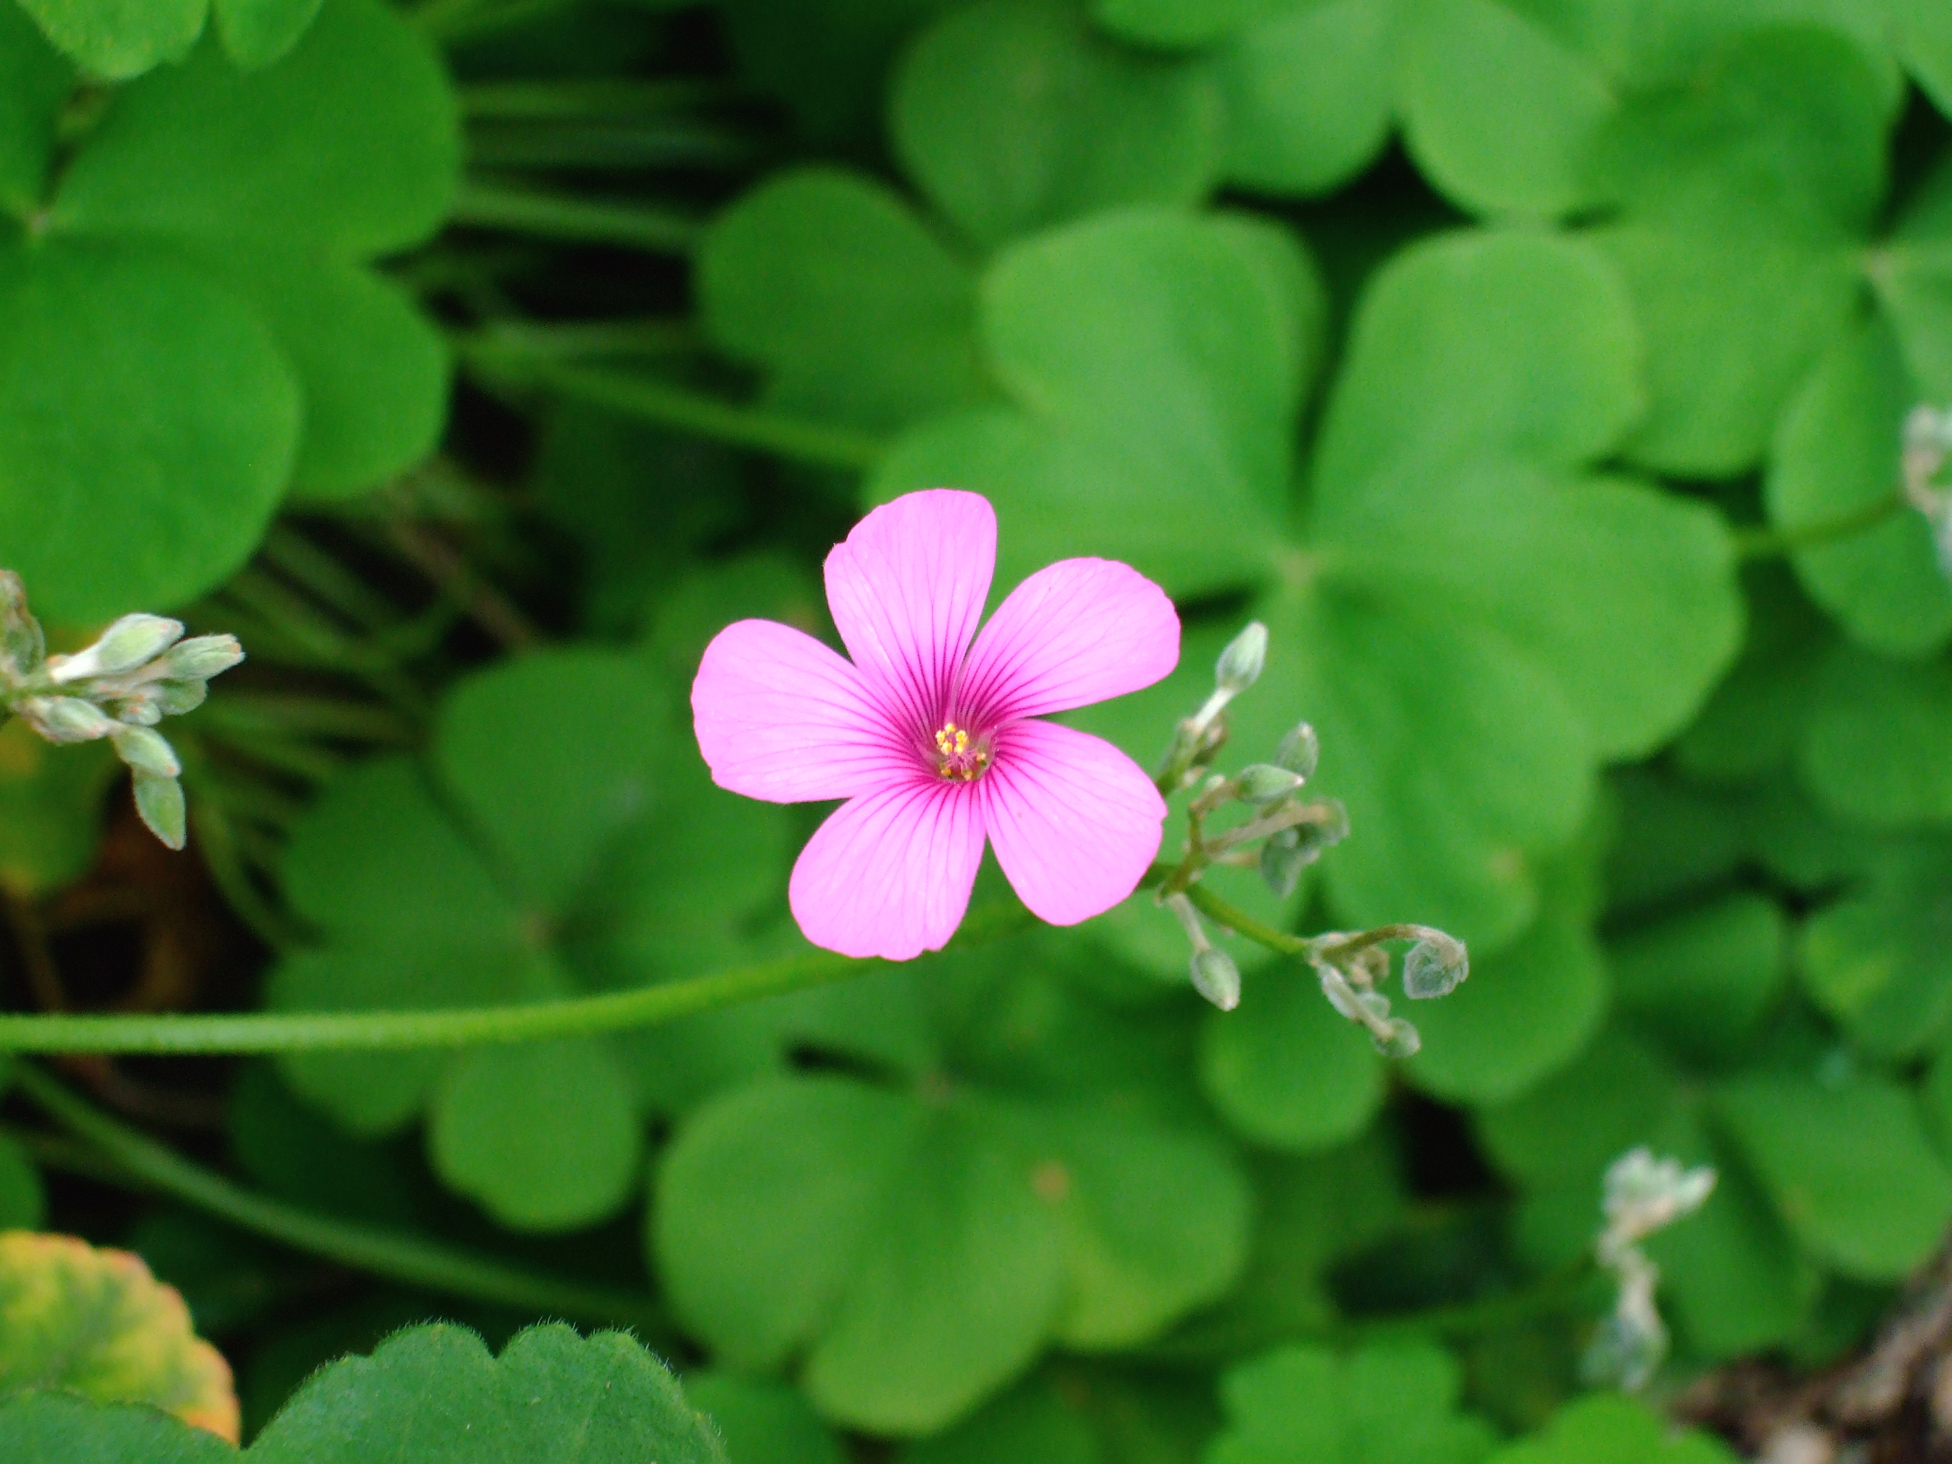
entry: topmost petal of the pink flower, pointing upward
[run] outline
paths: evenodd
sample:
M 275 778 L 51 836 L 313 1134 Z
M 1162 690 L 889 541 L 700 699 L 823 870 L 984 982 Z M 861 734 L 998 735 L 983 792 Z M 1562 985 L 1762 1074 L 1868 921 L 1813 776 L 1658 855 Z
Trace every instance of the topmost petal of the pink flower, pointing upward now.
M 828 554 L 828 607 L 855 666 L 933 732 L 996 570 L 996 511 L 982 494 L 929 488 L 882 504 Z

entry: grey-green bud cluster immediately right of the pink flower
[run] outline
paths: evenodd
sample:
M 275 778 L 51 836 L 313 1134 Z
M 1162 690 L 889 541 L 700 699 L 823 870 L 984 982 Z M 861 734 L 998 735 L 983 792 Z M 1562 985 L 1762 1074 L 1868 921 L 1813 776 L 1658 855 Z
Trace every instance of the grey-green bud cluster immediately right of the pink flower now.
M 1222 1011 L 1240 1003 L 1240 968 L 1216 947 L 1200 923 L 1193 886 L 1212 865 L 1241 865 L 1261 873 L 1267 886 L 1286 898 L 1325 849 L 1349 835 L 1349 814 L 1333 798 L 1302 798 L 1316 773 L 1322 744 L 1302 722 L 1275 748 L 1273 761 L 1249 763 L 1232 777 L 1214 773 L 1212 761 L 1226 746 L 1226 707 L 1251 689 L 1267 664 L 1267 627 L 1241 630 L 1214 668 L 1214 691 L 1173 734 L 1159 791 L 1165 794 L 1199 789 L 1187 804 L 1187 849 L 1181 863 L 1159 884 L 1159 904 L 1173 912 L 1193 945 L 1195 990 Z M 1210 834 L 1206 820 L 1228 804 L 1247 810 L 1236 828 Z M 1212 904 L 1208 900 L 1208 904 Z M 1322 994 L 1349 1021 L 1368 1029 L 1376 1050 L 1392 1058 L 1411 1056 L 1421 1038 L 1402 1017 L 1390 1015 L 1390 999 L 1376 988 L 1390 978 L 1386 941 L 1411 941 L 1403 958 L 1403 996 L 1439 997 L 1470 974 L 1464 943 L 1427 925 L 1384 925 L 1357 935 L 1329 933 L 1310 941 L 1267 935 L 1314 968 Z

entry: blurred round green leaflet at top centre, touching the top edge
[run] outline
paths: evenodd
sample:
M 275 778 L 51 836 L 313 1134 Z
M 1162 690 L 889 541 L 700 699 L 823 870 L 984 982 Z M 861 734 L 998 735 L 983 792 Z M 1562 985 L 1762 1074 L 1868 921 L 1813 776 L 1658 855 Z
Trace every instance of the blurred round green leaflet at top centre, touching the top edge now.
M 1197 203 L 1220 170 L 1220 98 L 1197 62 L 1128 51 L 1060 0 L 982 0 L 908 49 L 894 146 L 982 246 L 1128 203 Z

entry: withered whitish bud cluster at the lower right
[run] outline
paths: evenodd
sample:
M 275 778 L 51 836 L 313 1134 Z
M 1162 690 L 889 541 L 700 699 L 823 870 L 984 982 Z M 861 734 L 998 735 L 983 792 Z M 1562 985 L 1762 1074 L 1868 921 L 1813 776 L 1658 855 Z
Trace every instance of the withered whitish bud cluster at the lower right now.
M 1683 1169 L 1679 1159 L 1655 1159 L 1646 1148 L 1630 1150 L 1606 1167 L 1601 1200 L 1606 1228 L 1593 1253 L 1618 1281 L 1620 1296 L 1587 1349 L 1587 1380 L 1634 1392 L 1667 1357 L 1667 1325 L 1653 1304 L 1661 1269 L 1640 1249 L 1640 1241 L 1698 1210 L 1714 1183 L 1714 1169 Z

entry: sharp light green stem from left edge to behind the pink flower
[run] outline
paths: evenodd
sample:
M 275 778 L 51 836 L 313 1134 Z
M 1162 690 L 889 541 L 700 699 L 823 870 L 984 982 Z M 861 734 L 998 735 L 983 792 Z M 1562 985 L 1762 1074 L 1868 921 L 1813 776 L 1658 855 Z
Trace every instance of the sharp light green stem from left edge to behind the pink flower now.
M 958 945 L 992 941 L 1031 923 L 1017 906 L 962 921 Z M 880 968 L 830 951 L 765 960 L 691 980 L 572 1001 L 433 1011 L 293 1011 L 238 1015 L 72 1017 L 0 1015 L 0 1052 L 351 1052 L 533 1042 L 652 1027 L 740 1001 L 843 982 Z

